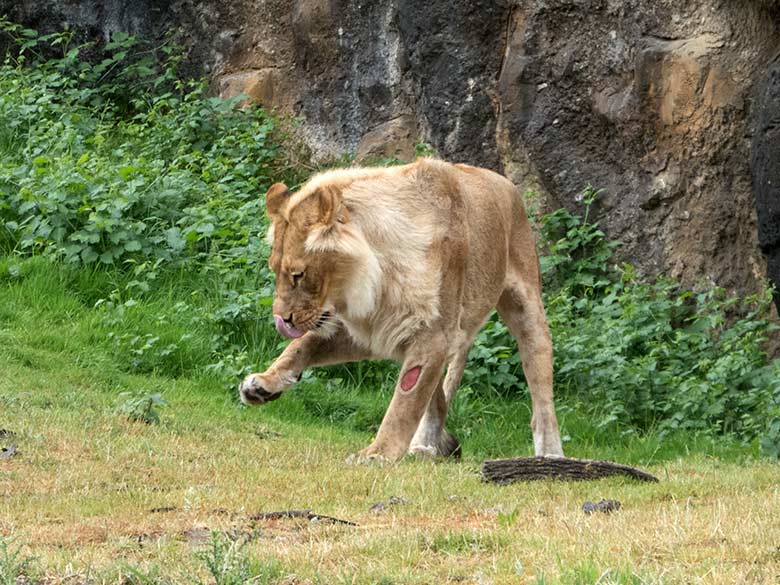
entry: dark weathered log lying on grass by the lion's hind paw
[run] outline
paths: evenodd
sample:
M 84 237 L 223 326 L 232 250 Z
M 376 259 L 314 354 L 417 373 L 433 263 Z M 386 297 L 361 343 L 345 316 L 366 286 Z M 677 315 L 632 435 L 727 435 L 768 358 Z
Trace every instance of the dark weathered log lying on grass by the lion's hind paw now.
M 635 467 L 591 459 L 514 457 L 491 459 L 482 464 L 482 479 L 499 484 L 541 479 L 588 481 L 613 475 L 623 475 L 640 481 L 658 481 L 657 477 Z

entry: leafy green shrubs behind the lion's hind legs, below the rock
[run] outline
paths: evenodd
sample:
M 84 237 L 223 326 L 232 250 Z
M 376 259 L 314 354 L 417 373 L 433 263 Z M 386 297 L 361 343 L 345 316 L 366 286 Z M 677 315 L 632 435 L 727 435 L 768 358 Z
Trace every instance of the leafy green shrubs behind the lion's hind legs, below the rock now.
M 558 210 L 543 226 L 558 397 L 577 399 L 602 426 L 624 433 L 759 437 L 762 452 L 778 456 L 780 364 L 763 349 L 777 328 L 769 292 L 740 300 L 713 287 L 695 293 L 669 279 L 648 282 L 631 266 L 609 266 L 615 245 L 597 225 Z M 464 385 L 525 388 L 514 347 L 493 318 L 477 337 Z

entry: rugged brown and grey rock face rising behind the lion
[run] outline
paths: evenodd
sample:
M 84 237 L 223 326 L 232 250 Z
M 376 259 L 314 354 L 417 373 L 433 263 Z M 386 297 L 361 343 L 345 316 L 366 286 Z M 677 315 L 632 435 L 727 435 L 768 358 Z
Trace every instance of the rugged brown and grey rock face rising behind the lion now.
M 752 177 L 763 185 L 780 157 L 776 137 L 752 139 L 756 124 L 777 126 L 777 83 L 764 79 L 779 5 L 0 0 L 0 12 L 102 37 L 174 27 L 191 71 L 300 117 L 315 158 L 411 157 L 424 141 L 507 174 L 548 209 L 579 210 L 590 183 L 604 189 L 596 217 L 625 260 L 745 293 L 766 275 Z M 763 193 L 777 227 L 778 193 Z M 780 239 L 761 246 L 780 279 Z

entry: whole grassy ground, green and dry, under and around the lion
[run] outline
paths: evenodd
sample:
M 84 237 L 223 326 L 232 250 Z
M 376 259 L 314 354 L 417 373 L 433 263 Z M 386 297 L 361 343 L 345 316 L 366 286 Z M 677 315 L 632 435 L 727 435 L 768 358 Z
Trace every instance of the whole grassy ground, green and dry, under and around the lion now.
M 495 487 L 479 481 L 479 463 L 529 452 L 528 407 L 462 397 L 453 420 L 464 438 L 462 462 L 347 467 L 344 457 L 370 440 L 386 391 L 312 379 L 249 410 L 213 378 L 191 374 L 188 364 L 203 351 L 197 343 L 181 356 L 175 379 L 133 374 L 83 292 L 89 282 L 74 284 L 67 271 L 38 260 L 22 273 L 0 282 L 0 427 L 15 433 L 0 441 L 21 451 L 0 461 L 0 535 L 24 544 L 41 574 L 209 582 L 201 540 L 214 530 L 249 541 L 237 558 L 256 560 L 250 572 L 265 568 L 287 583 L 774 583 L 780 576 L 777 466 L 752 461 L 751 449 L 604 436 L 564 407 L 570 455 L 641 463 L 661 483 Z M 175 338 L 186 330 L 170 317 L 182 294 L 159 295 L 112 330 Z M 170 403 L 161 424 L 116 413 L 118 392 L 138 388 Z M 408 502 L 370 512 L 391 496 Z M 623 508 L 582 513 L 584 501 L 602 497 Z M 173 509 L 152 512 L 160 507 Z M 301 508 L 360 526 L 248 518 Z M 0 582 L 11 565 L 0 554 Z

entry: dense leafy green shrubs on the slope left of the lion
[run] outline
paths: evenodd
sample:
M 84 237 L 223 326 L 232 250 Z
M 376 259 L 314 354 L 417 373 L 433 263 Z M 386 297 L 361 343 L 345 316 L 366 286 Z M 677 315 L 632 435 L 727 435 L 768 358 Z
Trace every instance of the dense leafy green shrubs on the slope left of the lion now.
M 274 119 L 178 81 L 167 45 L 118 35 L 89 61 L 67 33 L 0 29 L 16 39 L 0 65 L 0 250 L 120 274 L 90 293 L 117 325 L 165 283 L 197 282 L 215 359 L 240 354 L 272 295 L 261 195 L 298 180 Z M 187 365 L 178 339 L 112 341 L 137 371 Z

